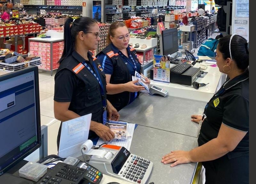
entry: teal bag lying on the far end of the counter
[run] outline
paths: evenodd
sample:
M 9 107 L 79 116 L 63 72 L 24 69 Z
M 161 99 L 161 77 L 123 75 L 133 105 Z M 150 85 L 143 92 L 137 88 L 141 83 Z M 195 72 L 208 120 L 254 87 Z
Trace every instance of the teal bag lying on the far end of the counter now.
M 215 57 L 214 50 L 217 49 L 217 45 L 220 39 L 207 39 L 199 48 L 197 55 L 198 56 L 209 56 Z

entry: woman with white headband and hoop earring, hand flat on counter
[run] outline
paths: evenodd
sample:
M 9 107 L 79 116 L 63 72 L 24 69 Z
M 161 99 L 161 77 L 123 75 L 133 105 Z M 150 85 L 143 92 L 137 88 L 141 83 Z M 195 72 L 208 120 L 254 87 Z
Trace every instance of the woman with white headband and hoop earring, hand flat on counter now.
M 206 184 L 249 183 L 249 46 L 239 35 L 220 39 L 217 65 L 230 78 L 207 103 L 202 116 L 199 147 L 172 151 L 162 159 L 171 166 L 202 162 Z

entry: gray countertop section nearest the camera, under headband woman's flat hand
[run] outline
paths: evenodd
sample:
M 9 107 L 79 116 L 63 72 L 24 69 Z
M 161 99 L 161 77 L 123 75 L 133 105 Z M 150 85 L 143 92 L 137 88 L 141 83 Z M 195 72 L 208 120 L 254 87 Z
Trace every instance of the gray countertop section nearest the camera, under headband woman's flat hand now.
M 161 159 L 172 150 L 188 151 L 197 146 L 197 139 L 194 137 L 138 125 L 134 130 L 130 152 L 153 162 L 148 183 L 190 184 L 196 163 L 170 167 L 170 164 L 163 164 Z

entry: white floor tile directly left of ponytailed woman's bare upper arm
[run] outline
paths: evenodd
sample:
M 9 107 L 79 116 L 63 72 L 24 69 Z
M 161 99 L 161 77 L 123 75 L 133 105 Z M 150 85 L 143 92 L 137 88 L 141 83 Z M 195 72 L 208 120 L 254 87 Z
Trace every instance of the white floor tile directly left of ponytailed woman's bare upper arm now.
M 43 116 L 54 118 L 53 95 L 40 101 L 40 113 Z

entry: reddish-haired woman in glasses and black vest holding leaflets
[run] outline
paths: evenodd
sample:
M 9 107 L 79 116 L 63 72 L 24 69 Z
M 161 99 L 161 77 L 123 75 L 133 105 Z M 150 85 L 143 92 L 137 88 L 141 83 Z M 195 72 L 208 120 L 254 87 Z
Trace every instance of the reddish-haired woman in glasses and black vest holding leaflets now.
M 129 40 L 130 34 L 124 23 L 114 22 L 109 26 L 108 46 L 97 55 L 106 74 L 108 100 L 118 111 L 132 103 L 144 89 L 135 85 L 138 80 L 132 81 L 135 71 L 140 73 L 141 70 L 136 50 L 128 44 Z M 144 78 L 149 84 L 149 79 Z

